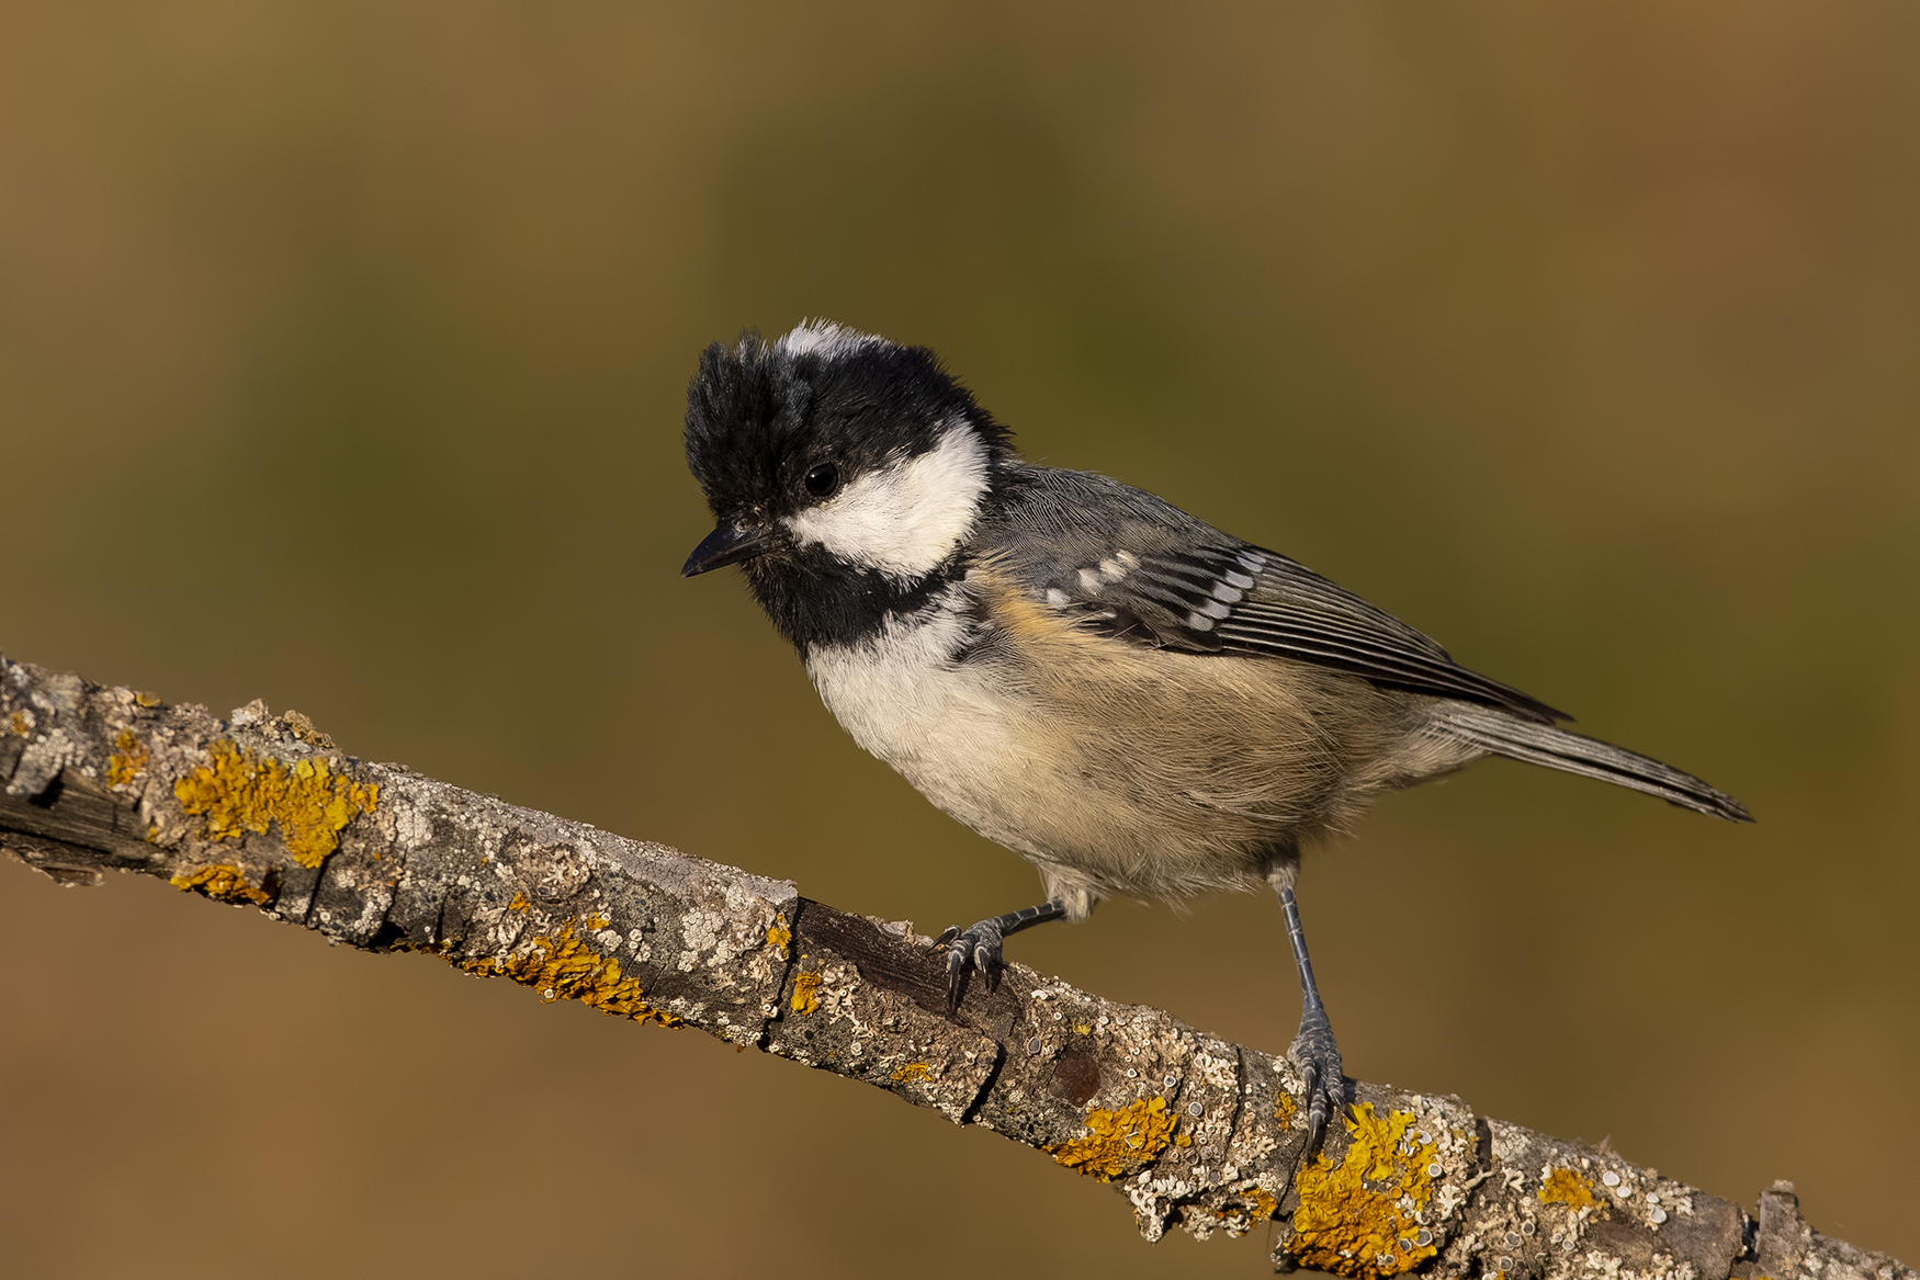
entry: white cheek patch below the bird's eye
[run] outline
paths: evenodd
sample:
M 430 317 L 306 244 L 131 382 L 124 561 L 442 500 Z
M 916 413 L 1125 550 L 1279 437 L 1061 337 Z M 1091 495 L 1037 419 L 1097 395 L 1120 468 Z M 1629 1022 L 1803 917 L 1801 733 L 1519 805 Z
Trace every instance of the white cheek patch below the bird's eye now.
M 987 445 L 956 418 L 933 449 L 856 476 L 785 524 L 801 545 L 912 581 L 952 555 L 985 493 Z

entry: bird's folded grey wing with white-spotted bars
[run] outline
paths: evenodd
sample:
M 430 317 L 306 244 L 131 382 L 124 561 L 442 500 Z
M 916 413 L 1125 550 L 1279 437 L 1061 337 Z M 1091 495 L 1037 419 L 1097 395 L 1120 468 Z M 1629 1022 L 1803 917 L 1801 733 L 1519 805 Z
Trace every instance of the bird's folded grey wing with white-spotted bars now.
M 1137 643 L 1313 662 L 1379 685 L 1569 720 L 1298 560 L 1104 476 L 1027 468 L 1004 558 L 1054 606 Z

